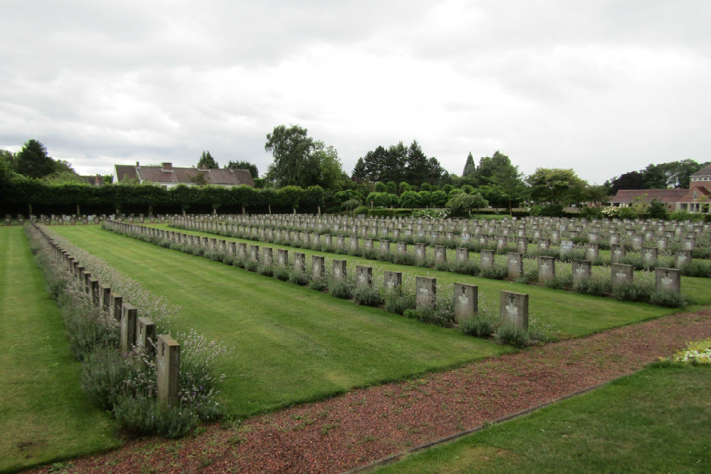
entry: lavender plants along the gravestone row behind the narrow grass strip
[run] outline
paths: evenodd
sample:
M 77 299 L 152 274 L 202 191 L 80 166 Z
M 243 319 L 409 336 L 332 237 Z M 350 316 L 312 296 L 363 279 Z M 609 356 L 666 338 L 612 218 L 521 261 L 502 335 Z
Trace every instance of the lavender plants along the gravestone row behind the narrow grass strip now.
M 176 229 L 193 230 L 192 225 L 185 225 L 179 222 L 173 222 L 173 224 L 171 224 L 171 227 Z M 205 226 L 203 225 L 203 227 Z M 496 253 L 496 251 L 494 250 L 490 250 L 490 252 L 496 253 L 496 258 L 493 262 L 491 262 L 491 264 L 488 264 L 487 266 L 480 265 L 479 263 L 475 262 L 472 259 L 469 259 L 468 257 L 466 259 L 455 258 L 454 260 L 440 260 L 435 263 L 434 259 L 427 255 L 418 258 L 417 252 L 415 254 L 412 254 L 410 252 L 404 253 L 399 251 L 391 252 L 389 242 L 387 244 L 387 250 L 380 250 L 380 248 L 378 247 L 378 241 L 375 238 L 372 239 L 373 247 L 358 246 L 357 248 L 353 248 L 348 244 L 349 237 L 346 237 L 345 235 L 333 237 L 333 235 L 324 235 L 319 232 L 294 231 L 299 232 L 299 239 L 287 239 L 279 237 L 279 235 L 284 234 L 277 232 L 277 230 L 274 230 L 273 228 L 252 227 L 251 230 L 240 230 L 239 226 L 231 227 L 232 228 L 223 226 L 222 228 L 212 229 L 208 226 L 208 228 L 206 229 L 199 229 L 199 232 L 213 233 L 215 235 L 223 235 L 225 237 L 250 239 L 255 242 L 269 242 L 277 245 L 311 249 L 316 250 L 317 252 L 329 252 L 336 254 L 346 253 L 349 255 L 353 255 L 354 257 L 362 257 L 370 260 L 392 262 L 395 264 L 402 265 L 422 266 L 424 268 L 432 268 L 437 269 L 439 271 L 451 271 L 454 273 L 479 276 L 481 278 L 487 279 L 503 280 L 510 278 L 513 281 L 516 281 L 517 283 L 525 284 L 535 284 L 539 282 L 538 267 L 535 258 L 538 254 L 544 257 L 557 256 L 557 252 L 551 252 L 550 249 L 543 252 L 537 252 L 536 254 L 524 253 L 522 256 L 522 274 L 516 277 L 510 277 L 507 268 L 507 255 L 502 254 L 503 252 L 506 252 L 507 254 L 516 253 L 515 247 L 510 246 L 501 247 L 500 249 L 498 249 L 498 253 Z M 306 238 L 302 238 L 303 236 L 306 236 Z M 316 240 L 314 239 L 314 236 L 317 236 Z M 339 238 L 341 239 L 341 244 L 337 243 Z M 412 242 L 412 238 L 408 237 L 407 242 Z M 454 243 L 452 243 L 454 241 L 448 242 L 447 240 L 443 241 L 442 239 L 439 239 L 437 242 L 439 244 L 442 244 L 441 247 L 454 247 Z M 424 244 L 422 242 L 418 243 L 427 247 L 427 244 Z M 458 249 L 464 249 L 466 251 L 476 249 L 479 252 L 481 252 L 481 250 L 486 250 L 486 248 L 484 248 L 482 244 L 471 242 L 467 247 L 458 247 Z M 203 249 L 195 249 L 194 251 L 204 252 Z M 468 256 L 468 254 L 466 255 Z M 656 290 L 654 289 L 654 282 L 652 281 L 655 267 L 643 265 L 641 263 L 641 257 L 634 254 L 627 255 L 624 259 L 622 259 L 621 262 L 625 264 L 631 264 L 632 266 L 634 266 L 634 269 L 638 270 L 638 278 L 642 281 L 636 281 L 634 284 L 634 288 L 641 288 L 642 286 L 645 288 L 644 291 L 642 291 L 642 293 L 638 296 L 633 296 L 634 290 L 632 289 L 619 289 L 616 292 L 613 291 L 614 289 L 612 286 L 612 280 L 610 275 L 610 266 L 609 264 L 604 264 L 604 262 L 602 262 L 602 260 L 599 258 L 594 259 L 590 262 L 591 267 L 594 269 L 594 271 L 592 271 L 592 276 L 588 279 L 584 279 L 582 281 L 577 281 L 574 283 L 572 278 L 572 262 L 574 260 L 584 260 L 585 257 L 585 250 L 582 248 L 574 248 L 570 250 L 565 254 L 562 260 L 556 260 L 557 271 L 555 272 L 555 278 L 542 281 L 541 284 L 547 286 L 550 289 L 575 291 L 577 293 L 589 294 L 593 296 L 613 296 L 621 300 L 641 301 L 644 303 L 658 304 L 660 306 L 667 307 L 670 305 L 671 301 L 679 302 L 678 306 L 675 307 L 683 307 L 686 304 L 685 298 L 683 296 L 680 296 L 678 298 L 661 298 L 659 295 L 655 295 Z M 671 258 L 659 259 L 658 263 L 672 266 L 673 260 Z M 251 265 L 252 264 L 247 263 L 247 266 Z M 711 267 L 709 266 L 708 262 L 693 261 L 685 265 L 683 269 L 681 269 L 681 271 L 682 274 L 688 276 L 705 276 L 709 272 L 711 272 Z M 420 319 L 424 321 L 424 319 L 427 318 Z

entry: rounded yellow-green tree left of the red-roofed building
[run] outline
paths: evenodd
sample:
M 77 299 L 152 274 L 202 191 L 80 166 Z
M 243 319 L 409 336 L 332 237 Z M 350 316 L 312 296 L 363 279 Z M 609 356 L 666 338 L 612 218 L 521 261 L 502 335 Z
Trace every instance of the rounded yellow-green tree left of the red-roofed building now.
M 526 181 L 533 200 L 562 206 L 579 203 L 587 188 L 587 183 L 578 178 L 572 168 L 538 168 Z

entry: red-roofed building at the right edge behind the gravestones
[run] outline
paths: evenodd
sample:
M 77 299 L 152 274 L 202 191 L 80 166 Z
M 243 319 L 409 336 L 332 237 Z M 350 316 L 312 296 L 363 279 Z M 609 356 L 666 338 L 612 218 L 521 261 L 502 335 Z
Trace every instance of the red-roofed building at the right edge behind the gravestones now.
M 670 211 L 711 212 L 711 165 L 690 176 L 688 189 L 621 189 L 610 198 L 610 203 L 626 208 L 653 199 L 665 203 Z

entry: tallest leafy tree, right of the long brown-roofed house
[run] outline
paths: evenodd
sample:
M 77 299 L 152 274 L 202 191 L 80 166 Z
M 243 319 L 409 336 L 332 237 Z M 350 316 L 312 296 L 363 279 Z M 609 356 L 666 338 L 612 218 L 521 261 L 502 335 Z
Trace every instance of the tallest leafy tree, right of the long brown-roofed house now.
M 321 176 L 319 156 L 314 156 L 316 142 L 308 136 L 308 130 L 298 125 L 288 129 L 284 125 L 274 127 L 267 134 L 265 151 L 271 151 L 274 162 L 267 176 L 277 186 L 296 185 L 306 188 L 318 183 Z

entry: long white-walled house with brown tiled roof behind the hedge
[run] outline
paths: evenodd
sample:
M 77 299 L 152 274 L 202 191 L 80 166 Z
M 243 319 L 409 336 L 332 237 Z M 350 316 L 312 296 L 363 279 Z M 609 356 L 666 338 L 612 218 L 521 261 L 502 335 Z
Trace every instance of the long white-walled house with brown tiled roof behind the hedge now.
M 114 183 L 122 181 L 138 183 L 154 183 L 164 188 L 173 188 L 178 184 L 196 185 L 211 184 L 216 186 L 248 185 L 254 187 L 255 182 L 249 170 L 233 170 L 230 168 L 178 168 L 173 163 L 162 163 L 161 166 L 141 166 L 136 162 L 132 165 L 114 165 Z

